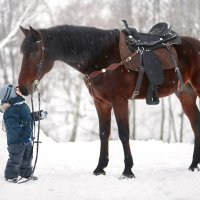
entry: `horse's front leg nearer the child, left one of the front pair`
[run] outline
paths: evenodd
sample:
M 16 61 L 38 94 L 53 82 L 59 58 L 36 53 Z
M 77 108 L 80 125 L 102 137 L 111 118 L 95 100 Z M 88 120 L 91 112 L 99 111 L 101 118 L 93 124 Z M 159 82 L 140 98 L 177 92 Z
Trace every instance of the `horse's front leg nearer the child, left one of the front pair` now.
M 110 123 L 111 123 L 111 109 L 112 107 L 104 102 L 94 100 L 97 114 L 99 117 L 99 136 L 101 141 L 99 163 L 94 170 L 95 175 L 103 174 L 103 170 L 108 165 L 108 141 L 110 136 Z

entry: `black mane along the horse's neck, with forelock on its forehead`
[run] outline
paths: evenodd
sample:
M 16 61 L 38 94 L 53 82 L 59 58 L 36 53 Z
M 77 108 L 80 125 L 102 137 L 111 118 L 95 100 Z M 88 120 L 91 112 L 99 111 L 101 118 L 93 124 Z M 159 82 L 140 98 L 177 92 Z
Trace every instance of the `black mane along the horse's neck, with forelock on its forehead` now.
M 54 49 L 56 53 L 62 46 L 62 52 L 66 52 L 70 59 L 73 57 L 77 59 L 79 56 L 79 59 L 93 60 L 103 49 L 113 46 L 119 39 L 117 29 L 103 30 L 86 26 L 62 25 L 40 29 L 40 31 L 48 49 Z M 30 36 L 27 36 L 21 45 L 21 51 L 32 51 L 35 48 Z

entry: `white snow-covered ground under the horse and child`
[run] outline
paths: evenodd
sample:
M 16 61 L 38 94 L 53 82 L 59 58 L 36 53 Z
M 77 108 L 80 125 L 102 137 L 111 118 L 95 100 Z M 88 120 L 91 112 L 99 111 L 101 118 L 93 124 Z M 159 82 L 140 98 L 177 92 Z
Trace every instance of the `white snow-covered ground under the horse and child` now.
M 106 176 L 94 176 L 99 141 L 55 143 L 43 139 L 36 169 L 38 181 L 8 183 L 5 137 L 0 135 L 0 200 L 199 200 L 200 172 L 187 170 L 191 144 L 131 141 L 136 179 L 120 180 L 123 152 L 110 142 Z

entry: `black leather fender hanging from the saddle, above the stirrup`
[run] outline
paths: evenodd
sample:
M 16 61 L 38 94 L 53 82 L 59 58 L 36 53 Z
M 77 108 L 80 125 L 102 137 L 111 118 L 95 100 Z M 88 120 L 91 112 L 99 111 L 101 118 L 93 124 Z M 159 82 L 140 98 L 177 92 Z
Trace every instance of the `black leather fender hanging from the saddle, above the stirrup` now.
M 164 75 L 160 59 L 152 50 L 146 50 L 143 52 L 142 60 L 149 81 L 152 84 L 161 85 L 164 81 Z

